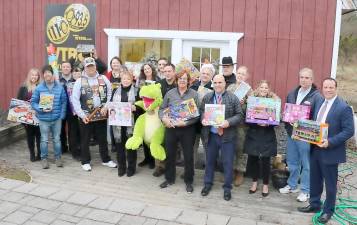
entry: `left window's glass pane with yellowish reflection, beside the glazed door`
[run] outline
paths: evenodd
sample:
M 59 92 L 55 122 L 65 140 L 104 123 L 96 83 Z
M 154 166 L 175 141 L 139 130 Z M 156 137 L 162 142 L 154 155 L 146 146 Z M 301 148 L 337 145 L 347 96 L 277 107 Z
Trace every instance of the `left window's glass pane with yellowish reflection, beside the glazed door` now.
M 170 61 L 171 44 L 170 40 L 120 39 L 119 57 L 123 63 L 140 62 L 145 59 L 158 60 L 161 57 Z

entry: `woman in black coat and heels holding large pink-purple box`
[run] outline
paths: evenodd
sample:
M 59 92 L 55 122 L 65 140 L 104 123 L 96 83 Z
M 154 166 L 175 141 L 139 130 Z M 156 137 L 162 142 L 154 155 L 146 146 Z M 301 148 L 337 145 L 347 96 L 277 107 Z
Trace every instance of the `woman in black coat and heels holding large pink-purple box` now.
M 262 80 L 252 94 L 255 97 L 279 98 L 270 91 L 268 81 Z M 250 194 L 257 191 L 259 177 L 259 161 L 262 161 L 263 190 L 262 195 L 269 195 L 270 161 L 276 156 L 277 141 L 274 126 L 267 124 L 249 124 L 244 143 L 245 153 L 248 154 L 248 167 L 251 168 L 253 183 Z

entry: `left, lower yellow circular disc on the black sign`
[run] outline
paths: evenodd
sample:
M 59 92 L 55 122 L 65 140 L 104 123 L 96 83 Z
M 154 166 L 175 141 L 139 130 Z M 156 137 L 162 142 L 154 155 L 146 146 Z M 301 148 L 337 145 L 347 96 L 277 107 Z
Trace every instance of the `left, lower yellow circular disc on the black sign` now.
M 54 16 L 47 23 L 46 33 L 52 43 L 62 44 L 67 40 L 69 32 L 68 22 L 62 16 Z

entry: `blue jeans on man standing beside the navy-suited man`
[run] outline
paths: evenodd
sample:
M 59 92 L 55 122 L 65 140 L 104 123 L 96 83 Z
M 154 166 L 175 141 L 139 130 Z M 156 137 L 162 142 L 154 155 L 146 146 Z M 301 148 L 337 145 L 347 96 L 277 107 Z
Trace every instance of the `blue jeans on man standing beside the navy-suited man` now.
M 293 140 L 288 136 L 286 153 L 290 176 L 288 185 L 296 189 L 300 177 L 301 192 L 310 193 L 310 144 L 303 141 Z M 301 171 L 302 168 L 302 171 Z M 301 176 L 300 176 L 301 172 Z

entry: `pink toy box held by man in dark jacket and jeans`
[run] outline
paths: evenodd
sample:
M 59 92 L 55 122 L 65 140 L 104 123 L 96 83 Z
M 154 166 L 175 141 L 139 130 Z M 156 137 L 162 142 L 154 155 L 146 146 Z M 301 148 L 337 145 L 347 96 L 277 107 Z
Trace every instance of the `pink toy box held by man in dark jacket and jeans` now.
M 301 119 L 309 119 L 310 109 L 311 107 L 307 105 L 285 103 L 283 121 L 288 123 L 295 123 Z

